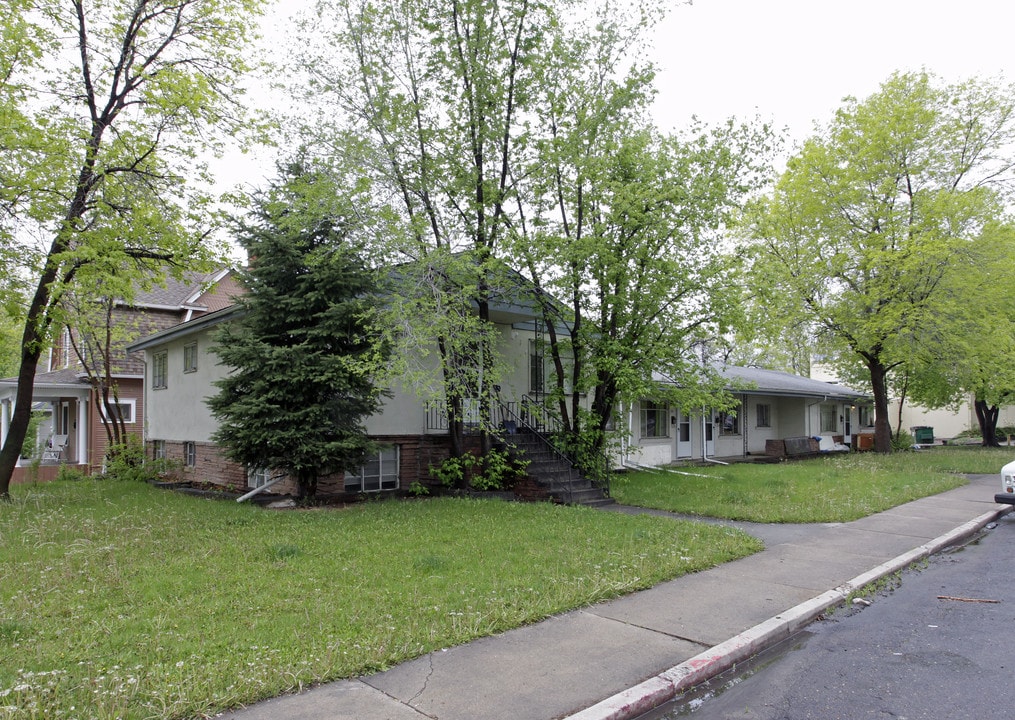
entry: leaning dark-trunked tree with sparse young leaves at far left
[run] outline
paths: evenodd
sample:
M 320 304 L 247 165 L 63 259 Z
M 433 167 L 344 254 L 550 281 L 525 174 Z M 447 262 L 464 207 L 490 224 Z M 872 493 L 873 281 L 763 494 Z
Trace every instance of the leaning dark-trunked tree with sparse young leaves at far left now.
M 0 497 L 28 426 L 60 301 L 101 268 L 210 252 L 210 198 L 190 181 L 216 131 L 250 127 L 239 80 L 262 0 L 35 0 L 0 17 L 4 237 L 35 280 Z M 13 62 L 11 62 L 13 59 Z M 32 241 L 39 245 L 28 245 Z

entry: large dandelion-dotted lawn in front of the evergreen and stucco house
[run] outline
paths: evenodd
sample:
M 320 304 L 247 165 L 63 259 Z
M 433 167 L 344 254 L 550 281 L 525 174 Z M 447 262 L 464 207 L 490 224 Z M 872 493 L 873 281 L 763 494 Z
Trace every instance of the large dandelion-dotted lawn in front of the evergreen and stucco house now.
M 491 501 L 275 512 L 143 483 L 0 503 L 0 717 L 181 718 L 749 554 L 729 528 Z

